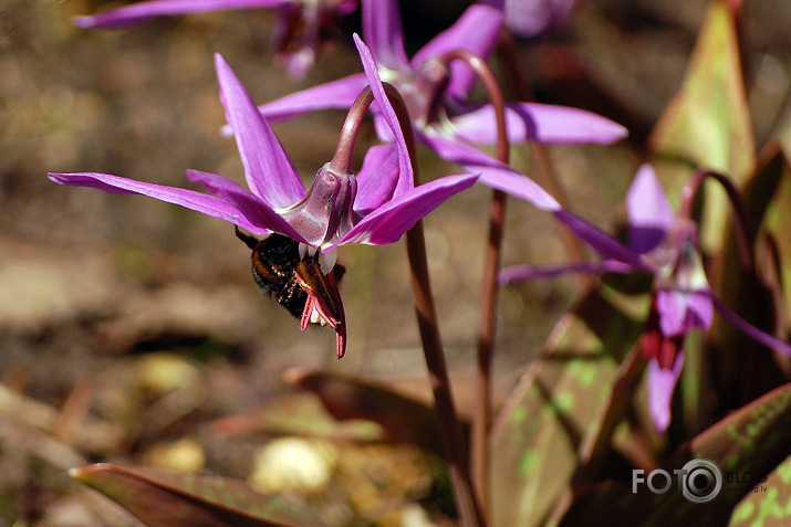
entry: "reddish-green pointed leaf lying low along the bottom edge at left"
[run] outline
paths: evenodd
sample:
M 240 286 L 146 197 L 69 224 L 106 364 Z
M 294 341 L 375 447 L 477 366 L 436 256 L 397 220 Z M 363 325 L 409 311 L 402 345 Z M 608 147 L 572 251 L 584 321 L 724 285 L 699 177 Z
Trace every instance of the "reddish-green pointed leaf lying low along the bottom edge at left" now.
M 312 527 L 309 510 L 243 482 L 110 463 L 71 471 L 72 477 L 121 504 L 149 527 Z

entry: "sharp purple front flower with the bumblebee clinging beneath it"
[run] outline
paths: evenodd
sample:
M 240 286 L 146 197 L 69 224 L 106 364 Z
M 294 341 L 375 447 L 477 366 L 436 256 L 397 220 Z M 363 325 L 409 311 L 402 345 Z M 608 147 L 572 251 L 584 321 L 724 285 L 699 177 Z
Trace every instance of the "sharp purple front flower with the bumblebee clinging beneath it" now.
M 399 138 L 394 144 L 371 148 L 356 176 L 332 162 L 324 165 L 305 191 L 274 131 L 228 63 L 217 55 L 216 65 L 220 98 L 235 131 L 249 190 L 228 178 L 199 170 L 187 170 L 187 178 L 212 194 L 96 172 L 50 173 L 50 179 L 60 185 L 148 196 L 221 218 L 253 234 L 283 234 L 302 244 L 300 254 L 311 260 L 309 266 L 321 267 L 323 276 L 315 276 L 315 281 L 323 284 L 327 278 L 330 287 L 334 284 L 332 270 L 337 246 L 396 242 L 419 219 L 477 179 L 471 175 L 447 176 L 415 187 L 406 145 Z M 378 78 L 372 78 L 372 84 L 377 82 Z M 385 118 L 396 130 L 398 124 L 392 118 L 389 103 L 382 98 L 381 82 L 372 87 L 378 104 L 391 109 L 385 112 Z M 326 307 L 339 303 L 340 296 L 335 291 L 320 295 L 310 287 L 310 280 L 298 278 L 310 296 L 303 327 L 308 322 L 334 327 L 339 336 L 337 354 L 342 356 L 343 307 Z M 322 289 L 326 287 L 322 285 Z

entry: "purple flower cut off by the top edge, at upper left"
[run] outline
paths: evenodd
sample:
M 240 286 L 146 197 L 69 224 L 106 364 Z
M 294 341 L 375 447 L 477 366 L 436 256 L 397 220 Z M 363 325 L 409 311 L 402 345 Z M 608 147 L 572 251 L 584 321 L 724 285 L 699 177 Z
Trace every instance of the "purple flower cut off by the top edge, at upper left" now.
M 162 15 L 207 11 L 278 8 L 274 31 L 278 57 L 292 76 L 304 75 L 322 45 L 337 32 L 337 21 L 357 7 L 356 0 L 150 0 L 74 17 L 77 28 L 125 28 Z

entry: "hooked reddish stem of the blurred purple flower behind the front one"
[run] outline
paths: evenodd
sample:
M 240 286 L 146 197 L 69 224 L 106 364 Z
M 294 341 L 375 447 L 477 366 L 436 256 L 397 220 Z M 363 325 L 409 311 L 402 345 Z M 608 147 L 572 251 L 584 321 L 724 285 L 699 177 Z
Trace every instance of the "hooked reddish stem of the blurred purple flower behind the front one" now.
M 508 129 L 506 126 L 506 99 L 502 96 L 495 74 L 487 63 L 468 51 L 456 50 L 443 56 L 443 62 L 464 61 L 478 75 L 489 95 L 497 119 L 496 157 L 506 165 L 509 162 Z M 478 361 L 476 373 L 476 405 L 472 414 L 470 436 L 472 475 L 478 499 L 488 509 L 489 498 L 489 428 L 492 421 L 491 410 L 491 362 L 495 356 L 497 337 L 497 301 L 499 293 L 498 273 L 502 256 L 502 239 L 506 228 L 507 194 L 493 190 L 489 208 L 489 238 L 483 260 L 481 277 L 481 309 L 478 329 Z

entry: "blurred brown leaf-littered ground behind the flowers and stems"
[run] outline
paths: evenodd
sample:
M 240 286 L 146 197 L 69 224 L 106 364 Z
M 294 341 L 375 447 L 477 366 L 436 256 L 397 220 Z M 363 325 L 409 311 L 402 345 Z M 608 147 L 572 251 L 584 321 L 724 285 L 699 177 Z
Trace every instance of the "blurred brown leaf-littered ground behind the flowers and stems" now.
M 45 176 L 101 171 L 188 187 L 185 170 L 195 168 L 242 181 L 236 145 L 218 133 L 225 119 L 212 54 L 222 53 L 263 103 L 361 71 L 351 45 L 358 13 L 316 66 L 292 80 L 273 63 L 272 11 L 162 18 L 118 31 L 70 23 L 117 4 L 0 0 L 0 525 L 135 525 L 64 472 L 95 461 L 256 483 L 256 460 L 266 457 L 271 436 L 228 436 L 212 423 L 290 393 L 282 380 L 290 368 L 425 375 L 403 243 L 342 250 L 348 351 L 337 361 L 332 330 L 301 334 L 285 309 L 258 293 L 249 250 L 230 224 L 147 198 L 59 187 Z M 402 1 L 405 20 L 421 21 L 406 28 L 409 51 L 467 4 Z M 604 229 L 623 218 L 643 140 L 680 85 L 706 4 L 581 1 L 558 33 L 521 43 L 537 101 L 587 108 L 629 128 L 631 138 L 614 146 L 550 147 L 570 208 Z M 761 145 L 785 108 L 791 9 L 783 0 L 746 2 L 743 20 Z M 343 118 L 316 113 L 274 126 L 308 183 L 332 157 Z M 358 161 L 366 140 L 374 143 L 372 129 L 364 134 Z M 517 167 L 532 173 L 527 150 L 512 151 Z M 429 151 L 420 162 L 425 179 L 458 173 Z M 426 220 L 458 391 L 475 365 L 489 196 L 473 188 Z M 507 226 L 506 264 L 565 260 L 547 214 L 511 200 Z M 577 293 L 574 278 L 502 291 L 499 390 L 518 381 Z M 340 485 L 298 493 L 340 525 L 398 525 L 415 503 L 437 496 L 426 476 L 431 461 L 417 450 L 344 449 L 318 449 Z M 384 460 L 381 473 L 365 472 L 372 460 Z M 373 497 L 354 495 L 361 481 L 387 477 L 382 473 L 396 465 L 414 471 L 379 484 Z M 437 503 L 419 510 L 427 518 L 426 510 L 441 510 Z

